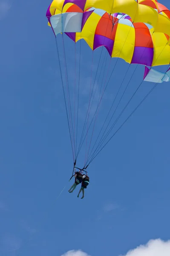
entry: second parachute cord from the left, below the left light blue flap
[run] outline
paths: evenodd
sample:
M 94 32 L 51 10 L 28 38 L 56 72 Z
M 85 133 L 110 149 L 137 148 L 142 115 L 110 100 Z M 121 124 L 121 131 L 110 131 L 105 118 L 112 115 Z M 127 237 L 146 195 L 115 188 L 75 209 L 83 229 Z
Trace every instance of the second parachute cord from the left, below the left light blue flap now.
M 67 98 L 68 98 L 68 105 L 69 105 L 69 117 L 71 123 L 71 136 L 73 141 L 73 154 L 74 154 L 74 161 L 75 161 L 75 138 L 74 138 L 74 129 L 73 129 L 73 122 L 72 122 L 72 108 L 71 108 L 71 101 L 70 101 L 70 92 L 69 92 L 69 79 L 68 79 L 68 72 L 67 72 L 67 64 L 66 64 L 66 52 L 64 46 L 64 37 L 62 34 L 62 42 L 63 42 L 63 55 L 64 55 L 64 66 L 65 66 L 65 74 L 66 74 L 66 88 L 67 88 Z

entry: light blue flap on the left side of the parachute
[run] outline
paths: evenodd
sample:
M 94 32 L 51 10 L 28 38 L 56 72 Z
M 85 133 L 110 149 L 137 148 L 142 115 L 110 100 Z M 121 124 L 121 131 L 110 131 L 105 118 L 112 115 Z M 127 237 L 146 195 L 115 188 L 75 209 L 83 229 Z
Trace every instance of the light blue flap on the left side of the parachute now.
M 83 13 L 66 12 L 50 17 L 50 23 L 55 36 L 64 32 L 81 32 Z

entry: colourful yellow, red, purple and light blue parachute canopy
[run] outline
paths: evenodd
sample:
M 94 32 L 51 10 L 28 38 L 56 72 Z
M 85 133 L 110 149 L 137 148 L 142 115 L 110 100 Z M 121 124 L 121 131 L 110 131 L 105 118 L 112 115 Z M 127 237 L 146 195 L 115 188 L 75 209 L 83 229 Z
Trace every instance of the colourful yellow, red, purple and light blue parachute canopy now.
M 84 39 L 92 51 L 104 46 L 112 58 L 142 64 L 144 81 L 170 81 L 169 68 L 152 68 L 170 64 L 170 10 L 157 0 L 53 0 L 46 17 L 55 37 Z

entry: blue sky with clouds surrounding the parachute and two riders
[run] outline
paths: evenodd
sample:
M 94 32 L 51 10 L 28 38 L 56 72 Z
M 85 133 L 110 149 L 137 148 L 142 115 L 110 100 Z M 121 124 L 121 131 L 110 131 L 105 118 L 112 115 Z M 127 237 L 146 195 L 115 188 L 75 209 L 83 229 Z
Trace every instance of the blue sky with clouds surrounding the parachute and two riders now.
M 161 3 L 170 9 L 169 0 Z M 69 194 L 73 159 L 49 4 L 0 0 L 0 255 L 169 256 L 169 83 L 153 90 L 89 165 L 84 199 L 77 198 L 79 188 Z M 66 37 L 65 47 L 72 86 L 74 47 Z M 81 117 L 92 63 L 82 47 Z M 115 87 L 127 67 L 118 61 Z M 135 70 L 124 102 L 143 72 Z M 127 116 L 152 86 L 143 84 Z M 112 102 L 109 90 L 98 125 Z

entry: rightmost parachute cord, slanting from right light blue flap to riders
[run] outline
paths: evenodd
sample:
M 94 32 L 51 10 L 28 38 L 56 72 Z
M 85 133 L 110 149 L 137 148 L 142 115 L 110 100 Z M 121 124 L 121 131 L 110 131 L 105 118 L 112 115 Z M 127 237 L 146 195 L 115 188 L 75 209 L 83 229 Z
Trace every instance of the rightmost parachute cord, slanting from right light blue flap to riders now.
M 169 64 L 170 67 L 170 64 Z M 169 69 L 169 67 L 167 68 L 167 70 Z M 166 71 L 167 72 L 167 71 Z M 164 75 L 161 77 L 161 79 L 164 77 Z M 161 81 L 161 79 L 153 86 L 153 88 L 147 93 L 147 95 L 144 97 L 144 99 L 141 100 L 141 102 L 138 104 L 138 106 L 133 110 L 133 112 L 127 117 L 127 119 L 122 123 L 122 125 L 115 131 L 115 133 L 112 135 L 112 137 L 107 141 L 107 143 L 100 149 L 100 151 L 97 152 L 97 154 L 95 154 L 95 156 L 89 161 L 88 166 L 90 163 L 92 163 L 92 161 L 95 159 L 95 157 L 97 157 L 97 155 L 102 151 L 102 149 L 109 143 L 109 141 L 115 136 L 115 134 L 117 134 L 117 132 L 122 128 L 122 126 L 130 119 L 130 117 L 133 115 L 133 113 L 135 113 L 135 111 L 140 107 L 140 105 L 144 102 L 145 99 L 147 99 L 147 97 L 150 95 L 150 93 L 152 93 L 152 91 L 157 87 L 157 85 L 159 84 L 159 82 Z M 143 81 L 141 82 L 141 84 L 143 83 Z M 141 84 L 138 86 L 138 88 L 141 86 Z M 138 90 L 137 88 L 137 90 Z M 136 92 L 135 92 L 136 93 Z M 134 93 L 134 94 L 135 94 Z

